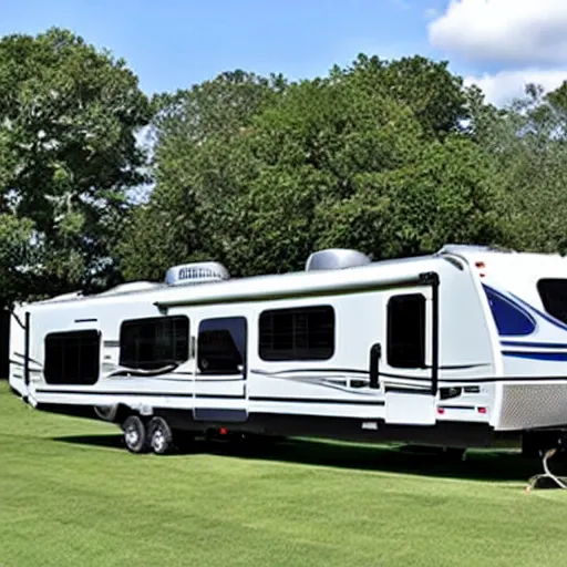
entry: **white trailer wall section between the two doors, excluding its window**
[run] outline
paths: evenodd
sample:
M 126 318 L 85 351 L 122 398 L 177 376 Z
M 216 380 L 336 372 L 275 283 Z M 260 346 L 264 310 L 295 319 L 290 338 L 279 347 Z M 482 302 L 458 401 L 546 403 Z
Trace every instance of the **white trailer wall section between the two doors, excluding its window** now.
M 323 360 L 265 360 L 258 321 L 266 310 L 330 307 L 334 344 Z M 378 292 L 250 305 L 249 410 L 297 415 L 383 416 L 383 390 L 370 388 L 369 353 L 382 340 Z

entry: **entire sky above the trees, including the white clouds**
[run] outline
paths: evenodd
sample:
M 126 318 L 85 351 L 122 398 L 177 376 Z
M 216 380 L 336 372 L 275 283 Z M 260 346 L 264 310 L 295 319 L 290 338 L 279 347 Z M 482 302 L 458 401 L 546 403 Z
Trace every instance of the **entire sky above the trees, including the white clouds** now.
M 449 60 L 497 102 L 567 78 L 567 0 L 0 0 L 0 35 L 59 25 L 110 49 L 148 94 L 237 68 L 310 78 L 360 52 Z

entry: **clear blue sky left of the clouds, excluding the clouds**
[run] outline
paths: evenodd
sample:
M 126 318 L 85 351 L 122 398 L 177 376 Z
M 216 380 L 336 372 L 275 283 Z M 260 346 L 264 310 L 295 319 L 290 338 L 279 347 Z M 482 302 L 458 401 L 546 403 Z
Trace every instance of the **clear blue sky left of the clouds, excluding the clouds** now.
M 426 6 L 425 6 L 426 4 Z M 224 70 L 326 73 L 359 52 L 439 55 L 427 43 L 432 0 L 0 0 L 0 34 L 70 28 L 124 56 L 148 92 Z

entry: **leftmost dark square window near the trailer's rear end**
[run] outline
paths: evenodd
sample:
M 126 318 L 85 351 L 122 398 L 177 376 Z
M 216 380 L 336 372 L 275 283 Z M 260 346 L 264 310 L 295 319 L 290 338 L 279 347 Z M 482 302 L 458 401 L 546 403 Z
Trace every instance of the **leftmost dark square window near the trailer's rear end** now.
M 45 337 L 48 384 L 92 385 L 99 380 L 101 336 L 96 330 L 54 332 Z

